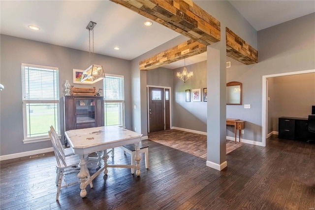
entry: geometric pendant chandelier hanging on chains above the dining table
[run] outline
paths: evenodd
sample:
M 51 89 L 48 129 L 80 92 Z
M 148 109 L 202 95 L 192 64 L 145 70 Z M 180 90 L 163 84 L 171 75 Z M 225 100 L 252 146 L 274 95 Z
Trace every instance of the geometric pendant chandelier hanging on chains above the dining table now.
M 91 65 L 91 31 L 93 35 L 93 53 L 94 53 L 94 27 L 96 23 L 90 21 L 89 25 L 87 26 L 86 29 L 89 30 L 89 60 L 90 60 L 90 65 Z M 101 65 L 96 65 L 92 64 L 88 69 L 83 71 L 82 73 L 82 78 L 81 82 L 83 81 L 90 81 L 92 82 L 91 84 L 100 81 L 105 78 L 105 73 L 103 70 L 103 67 Z

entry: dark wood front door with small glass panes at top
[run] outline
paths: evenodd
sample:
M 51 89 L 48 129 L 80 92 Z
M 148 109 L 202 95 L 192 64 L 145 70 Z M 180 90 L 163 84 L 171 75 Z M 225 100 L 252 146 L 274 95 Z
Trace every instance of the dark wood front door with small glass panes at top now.
M 149 87 L 150 132 L 164 130 L 164 88 Z

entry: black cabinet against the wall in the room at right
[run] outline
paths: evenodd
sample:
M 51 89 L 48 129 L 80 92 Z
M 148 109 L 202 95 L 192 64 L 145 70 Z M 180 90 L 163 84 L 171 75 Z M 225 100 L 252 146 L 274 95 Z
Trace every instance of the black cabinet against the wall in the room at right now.
M 288 140 L 307 140 L 307 118 L 279 117 L 279 138 Z

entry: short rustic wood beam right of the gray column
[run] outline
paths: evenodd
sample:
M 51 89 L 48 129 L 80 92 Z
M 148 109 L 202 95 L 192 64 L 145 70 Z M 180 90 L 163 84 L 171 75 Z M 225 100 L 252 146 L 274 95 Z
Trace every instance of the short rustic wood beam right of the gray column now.
M 226 28 L 226 55 L 246 65 L 258 63 L 257 50 L 229 28 Z

